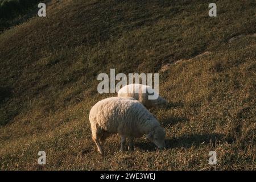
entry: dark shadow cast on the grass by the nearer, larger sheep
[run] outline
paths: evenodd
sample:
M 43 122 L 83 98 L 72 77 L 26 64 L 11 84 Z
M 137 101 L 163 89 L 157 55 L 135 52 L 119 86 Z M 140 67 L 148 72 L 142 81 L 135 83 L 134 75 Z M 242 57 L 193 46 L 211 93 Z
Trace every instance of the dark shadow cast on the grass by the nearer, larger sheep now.
M 190 148 L 192 146 L 199 147 L 201 144 L 212 143 L 213 146 L 216 142 L 228 142 L 229 139 L 225 139 L 223 134 L 191 134 L 183 135 L 181 137 L 173 137 L 171 139 L 166 139 L 166 149 L 170 148 Z M 140 150 L 144 151 L 155 151 L 156 146 L 154 143 L 147 142 L 137 142 L 135 146 Z

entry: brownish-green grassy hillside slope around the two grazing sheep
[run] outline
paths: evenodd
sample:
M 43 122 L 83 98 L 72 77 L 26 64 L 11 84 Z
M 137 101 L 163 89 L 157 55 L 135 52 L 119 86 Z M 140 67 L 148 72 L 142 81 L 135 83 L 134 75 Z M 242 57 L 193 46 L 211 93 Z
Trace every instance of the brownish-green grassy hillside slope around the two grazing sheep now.
M 62 1 L 0 34 L 0 169 L 255 169 L 255 1 Z M 89 110 L 97 75 L 159 73 L 167 133 L 101 156 Z M 47 165 L 37 164 L 46 151 Z M 208 153 L 217 152 L 217 165 Z

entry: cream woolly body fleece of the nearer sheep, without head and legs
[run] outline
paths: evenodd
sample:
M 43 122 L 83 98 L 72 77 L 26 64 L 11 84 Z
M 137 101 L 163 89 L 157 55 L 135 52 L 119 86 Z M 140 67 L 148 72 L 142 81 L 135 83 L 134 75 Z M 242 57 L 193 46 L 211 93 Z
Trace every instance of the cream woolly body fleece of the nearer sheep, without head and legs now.
M 137 100 L 131 97 L 110 97 L 95 104 L 89 114 L 93 139 L 104 132 L 125 137 L 142 137 L 160 123 Z

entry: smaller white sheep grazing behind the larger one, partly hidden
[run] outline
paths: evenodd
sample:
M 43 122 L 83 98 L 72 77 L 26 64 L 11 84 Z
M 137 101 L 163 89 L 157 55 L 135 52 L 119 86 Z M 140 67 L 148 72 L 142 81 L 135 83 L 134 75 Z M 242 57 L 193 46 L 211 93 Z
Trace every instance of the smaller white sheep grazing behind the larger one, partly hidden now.
M 141 102 L 147 109 L 150 109 L 151 107 L 168 104 L 168 101 L 166 101 L 163 97 L 160 97 L 158 95 L 158 98 L 156 100 L 149 100 L 148 96 L 153 94 L 154 89 L 152 89 L 151 86 L 142 84 L 126 85 L 118 91 L 118 97 L 133 97 L 139 102 Z

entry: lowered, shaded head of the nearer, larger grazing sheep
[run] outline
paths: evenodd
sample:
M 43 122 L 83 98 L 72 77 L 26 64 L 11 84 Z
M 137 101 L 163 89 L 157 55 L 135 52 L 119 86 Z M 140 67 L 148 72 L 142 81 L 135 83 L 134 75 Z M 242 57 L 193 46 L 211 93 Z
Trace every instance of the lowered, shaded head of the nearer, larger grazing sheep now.
M 164 129 L 160 126 L 155 127 L 154 130 L 152 130 L 148 135 L 147 138 L 155 143 L 158 148 L 163 149 L 166 147 L 166 144 L 164 143 L 164 138 L 166 137 L 166 132 Z

